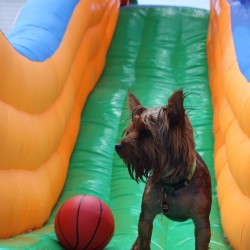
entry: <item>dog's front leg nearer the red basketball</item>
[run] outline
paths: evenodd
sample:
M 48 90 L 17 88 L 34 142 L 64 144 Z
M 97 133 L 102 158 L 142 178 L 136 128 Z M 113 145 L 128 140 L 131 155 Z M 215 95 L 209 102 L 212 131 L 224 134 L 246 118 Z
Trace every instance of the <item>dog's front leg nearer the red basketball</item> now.
M 141 214 L 138 222 L 138 237 L 133 250 L 149 250 L 153 230 L 153 220 L 161 211 L 161 190 L 158 185 L 147 184 L 142 199 Z

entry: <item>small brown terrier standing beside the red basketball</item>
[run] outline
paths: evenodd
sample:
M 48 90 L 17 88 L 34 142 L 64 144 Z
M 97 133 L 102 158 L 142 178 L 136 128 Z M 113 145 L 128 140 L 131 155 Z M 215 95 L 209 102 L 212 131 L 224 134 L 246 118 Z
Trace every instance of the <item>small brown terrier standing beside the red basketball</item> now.
M 167 105 L 151 109 L 143 107 L 131 93 L 128 98 L 131 123 L 115 149 L 134 180 L 147 180 L 132 249 L 150 249 L 153 220 L 159 213 L 175 221 L 192 219 L 195 249 L 208 249 L 211 179 L 195 151 L 182 90 L 170 96 Z

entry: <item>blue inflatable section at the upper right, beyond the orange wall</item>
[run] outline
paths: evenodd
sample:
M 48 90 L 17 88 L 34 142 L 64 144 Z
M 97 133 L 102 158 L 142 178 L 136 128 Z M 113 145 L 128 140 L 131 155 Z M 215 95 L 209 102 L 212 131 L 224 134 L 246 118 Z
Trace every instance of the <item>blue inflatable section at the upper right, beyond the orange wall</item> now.
M 250 1 L 230 0 L 231 25 L 241 73 L 250 81 Z

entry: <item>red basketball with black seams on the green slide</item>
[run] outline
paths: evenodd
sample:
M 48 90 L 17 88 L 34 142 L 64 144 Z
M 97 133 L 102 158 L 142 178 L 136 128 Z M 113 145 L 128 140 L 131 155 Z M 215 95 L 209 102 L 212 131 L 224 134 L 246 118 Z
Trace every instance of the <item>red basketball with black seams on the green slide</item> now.
M 68 199 L 58 210 L 55 232 L 66 249 L 104 249 L 114 234 L 114 217 L 109 207 L 91 195 Z

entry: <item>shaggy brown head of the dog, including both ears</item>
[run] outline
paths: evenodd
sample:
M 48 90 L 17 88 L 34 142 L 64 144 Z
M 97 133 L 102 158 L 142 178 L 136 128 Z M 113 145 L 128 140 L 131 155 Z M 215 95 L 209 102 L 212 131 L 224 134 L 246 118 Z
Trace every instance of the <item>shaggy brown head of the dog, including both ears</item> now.
M 178 90 L 167 105 L 147 109 L 129 93 L 131 123 L 115 149 L 137 182 L 150 176 L 153 180 L 186 176 L 195 156 L 193 129 L 183 102 L 183 92 Z

